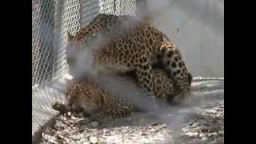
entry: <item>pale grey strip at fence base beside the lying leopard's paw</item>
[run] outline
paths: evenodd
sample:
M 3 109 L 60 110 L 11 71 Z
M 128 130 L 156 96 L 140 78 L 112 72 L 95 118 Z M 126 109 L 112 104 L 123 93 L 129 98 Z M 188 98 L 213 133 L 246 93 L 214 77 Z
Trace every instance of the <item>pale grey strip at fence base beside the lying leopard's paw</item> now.
M 69 79 L 70 75 L 58 78 L 54 84 L 32 90 L 32 136 L 58 114 L 56 110 L 51 109 L 51 102 L 64 102 L 65 78 Z

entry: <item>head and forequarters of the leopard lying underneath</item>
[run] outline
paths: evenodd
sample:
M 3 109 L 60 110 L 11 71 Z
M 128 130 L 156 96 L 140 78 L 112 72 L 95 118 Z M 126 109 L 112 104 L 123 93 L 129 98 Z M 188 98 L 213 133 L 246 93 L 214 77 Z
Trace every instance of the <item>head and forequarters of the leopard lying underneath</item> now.
M 114 118 L 126 118 L 138 108 L 103 90 L 93 78 L 77 79 L 66 89 L 66 103 L 53 102 L 52 108 L 61 114 L 80 113 L 92 121 L 104 122 Z

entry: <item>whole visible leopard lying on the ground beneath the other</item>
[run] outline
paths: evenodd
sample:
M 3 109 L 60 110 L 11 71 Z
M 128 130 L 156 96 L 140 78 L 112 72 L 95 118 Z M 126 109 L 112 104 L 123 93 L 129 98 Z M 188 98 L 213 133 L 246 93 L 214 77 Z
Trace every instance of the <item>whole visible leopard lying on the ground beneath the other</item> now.
M 166 71 L 153 69 L 153 74 L 154 84 L 158 85 L 154 89 L 156 97 L 162 98 L 174 95 L 173 82 L 168 78 Z M 130 80 L 134 86 L 138 85 L 138 82 L 129 76 L 126 77 L 126 80 Z M 53 109 L 61 113 L 83 111 L 84 114 L 97 121 L 101 119 L 109 120 L 108 118 L 125 118 L 130 116 L 133 111 L 140 111 L 139 106 L 134 106 L 122 97 L 103 90 L 97 82 L 94 82 L 93 78 L 79 79 L 72 82 L 66 90 L 66 101 L 67 105 L 54 102 Z

